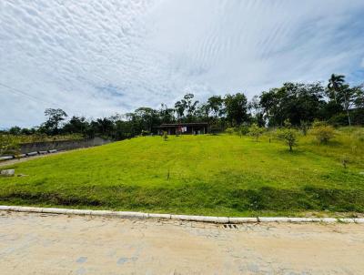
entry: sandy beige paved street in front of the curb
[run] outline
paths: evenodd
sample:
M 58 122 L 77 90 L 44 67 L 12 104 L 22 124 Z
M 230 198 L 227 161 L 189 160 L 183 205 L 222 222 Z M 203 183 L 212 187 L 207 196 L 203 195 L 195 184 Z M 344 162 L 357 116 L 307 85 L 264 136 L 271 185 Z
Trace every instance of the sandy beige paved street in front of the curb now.
M 0 274 L 363 274 L 364 226 L 0 211 Z

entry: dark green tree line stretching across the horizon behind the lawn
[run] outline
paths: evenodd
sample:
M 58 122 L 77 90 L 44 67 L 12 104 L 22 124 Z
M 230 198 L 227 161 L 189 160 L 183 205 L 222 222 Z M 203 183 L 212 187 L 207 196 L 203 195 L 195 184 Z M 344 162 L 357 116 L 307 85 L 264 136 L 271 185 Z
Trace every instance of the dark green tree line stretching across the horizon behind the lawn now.
M 139 107 L 124 115 L 87 119 L 68 117 L 62 109 L 45 110 L 46 120 L 39 127 L 11 127 L 3 132 L 12 135 L 68 135 L 84 138 L 96 136 L 115 140 L 156 133 L 163 123 L 208 122 L 212 131 L 227 127 L 258 125 L 307 127 L 314 120 L 339 126 L 364 125 L 364 88 L 350 86 L 345 76 L 331 75 L 327 85 L 316 83 L 284 83 L 263 91 L 250 101 L 244 93 L 213 96 L 199 102 L 187 94 L 173 107 L 161 104 L 158 109 Z

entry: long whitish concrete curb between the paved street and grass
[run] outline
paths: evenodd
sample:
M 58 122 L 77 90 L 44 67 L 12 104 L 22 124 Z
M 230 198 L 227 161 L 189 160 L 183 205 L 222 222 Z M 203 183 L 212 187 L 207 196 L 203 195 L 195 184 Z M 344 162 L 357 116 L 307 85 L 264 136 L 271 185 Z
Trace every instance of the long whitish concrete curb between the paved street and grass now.
M 190 215 L 172 215 L 172 214 L 157 214 L 143 212 L 128 212 L 128 211 L 111 211 L 111 210 L 89 210 L 89 209 L 56 209 L 56 208 L 34 208 L 34 207 L 19 207 L 0 205 L 0 211 L 15 211 L 15 212 L 31 212 L 31 213 L 51 213 L 63 215 L 86 215 L 86 216 L 101 216 L 114 217 L 123 219 L 174 219 L 185 221 L 201 221 L 211 223 L 268 223 L 268 222 L 321 222 L 321 223 L 359 223 L 364 224 L 364 218 L 289 218 L 289 217 L 257 217 L 257 218 L 235 218 L 235 217 L 213 217 L 213 216 L 190 216 Z

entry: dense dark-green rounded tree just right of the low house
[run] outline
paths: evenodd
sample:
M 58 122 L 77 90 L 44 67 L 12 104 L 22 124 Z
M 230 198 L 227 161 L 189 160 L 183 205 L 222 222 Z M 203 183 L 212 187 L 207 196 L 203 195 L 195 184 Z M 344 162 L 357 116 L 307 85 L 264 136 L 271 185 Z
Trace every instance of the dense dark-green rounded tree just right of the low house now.
M 226 95 L 224 98 L 227 121 L 231 126 L 248 121 L 248 100 L 244 94 Z

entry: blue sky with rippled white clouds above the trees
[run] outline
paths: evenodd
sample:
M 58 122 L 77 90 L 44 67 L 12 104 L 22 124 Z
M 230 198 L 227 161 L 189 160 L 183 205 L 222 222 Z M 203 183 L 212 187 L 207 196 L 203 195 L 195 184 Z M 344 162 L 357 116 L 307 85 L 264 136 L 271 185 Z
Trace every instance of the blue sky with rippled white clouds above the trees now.
M 364 82 L 364 1 L 1 0 L 0 127 Z

